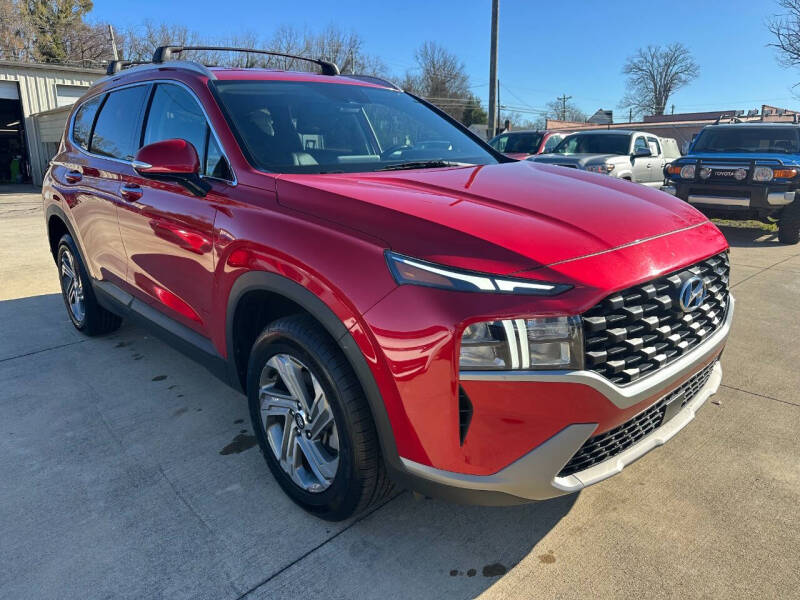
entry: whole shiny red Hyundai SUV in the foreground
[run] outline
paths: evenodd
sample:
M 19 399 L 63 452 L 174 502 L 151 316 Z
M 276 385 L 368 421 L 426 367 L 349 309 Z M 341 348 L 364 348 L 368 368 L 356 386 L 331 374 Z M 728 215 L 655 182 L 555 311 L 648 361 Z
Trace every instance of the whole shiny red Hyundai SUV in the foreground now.
M 245 392 L 305 509 L 343 519 L 393 484 L 575 492 L 717 390 L 727 244 L 685 202 L 512 161 L 324 61 L 181 50 L 113 64 L 72 110 L 43 190 L 64 302 L 88 335 L 141 321 Z

